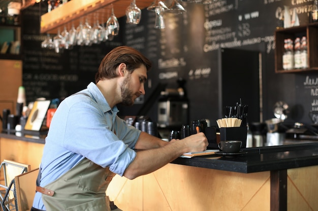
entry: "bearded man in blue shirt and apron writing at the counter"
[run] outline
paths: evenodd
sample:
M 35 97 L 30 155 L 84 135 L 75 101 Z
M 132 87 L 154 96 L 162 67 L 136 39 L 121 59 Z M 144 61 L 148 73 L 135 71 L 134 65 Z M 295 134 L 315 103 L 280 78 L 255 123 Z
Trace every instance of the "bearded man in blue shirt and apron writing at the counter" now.
M 134 179 L 189 151 L 208 146 L 203 133 L 165 142 L 129 126 L 116 104 L 133 105 L 145 94 L 150 61 L 129 47 L 109 52 L 96 84 L 61 102 L 41 161 L 41 180 L 31 210 L 109 211 L 105 194 L 115 174 Z

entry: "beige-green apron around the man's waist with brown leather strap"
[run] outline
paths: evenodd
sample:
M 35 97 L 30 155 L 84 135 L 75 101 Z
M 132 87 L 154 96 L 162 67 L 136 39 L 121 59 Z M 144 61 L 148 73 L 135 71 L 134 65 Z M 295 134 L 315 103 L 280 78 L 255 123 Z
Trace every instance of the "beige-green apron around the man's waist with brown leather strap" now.
M 47 211 L 110 211 L 106 189 L 114 173 L 109 168 L 84 158 L 67 173 L 44 188 L 53 196 L 42 194 Z M 116 209 L 120 210 L 120 209 Z

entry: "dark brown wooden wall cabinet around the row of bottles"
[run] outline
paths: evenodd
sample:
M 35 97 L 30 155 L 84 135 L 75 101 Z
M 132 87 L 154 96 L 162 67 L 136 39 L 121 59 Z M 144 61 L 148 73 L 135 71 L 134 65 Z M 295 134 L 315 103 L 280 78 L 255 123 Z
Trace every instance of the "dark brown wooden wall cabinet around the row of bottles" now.
M 296 37 L 307 37 L 307 63 L 306 69 L 291 69 L 284 70 L 282 56 L 284 54 L 284 39 L 291 38 L 295 41 Z M 290 73 L 290 72 L 308 72 L 318 70 L 318 23 L 310 23 L 308 25 L 296 26 L 275 31 L 275 72 Z

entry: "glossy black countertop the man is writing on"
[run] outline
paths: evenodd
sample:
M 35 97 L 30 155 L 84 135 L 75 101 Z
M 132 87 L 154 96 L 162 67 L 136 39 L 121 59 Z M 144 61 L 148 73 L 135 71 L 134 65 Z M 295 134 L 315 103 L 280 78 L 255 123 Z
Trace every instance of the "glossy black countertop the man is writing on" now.
M 317 142 L 245 148 L 242 151 L 247 153 L 233 157 L 206 155 L 177 158 L 172 163 L 239 173 L 256 173 L 318 165 Z

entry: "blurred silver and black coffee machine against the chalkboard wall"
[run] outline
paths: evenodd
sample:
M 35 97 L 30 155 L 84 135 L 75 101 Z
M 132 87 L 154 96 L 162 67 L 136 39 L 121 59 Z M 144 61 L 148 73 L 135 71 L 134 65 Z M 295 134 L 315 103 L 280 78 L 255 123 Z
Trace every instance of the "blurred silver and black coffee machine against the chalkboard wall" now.
M 161 92 L 158 102 L 158 125 L 161 128 L 179 128 L 188 124 L 188 99 L 184 90 L 185 80 L 178 79 L 178 88 Z

